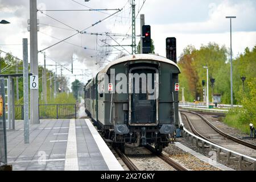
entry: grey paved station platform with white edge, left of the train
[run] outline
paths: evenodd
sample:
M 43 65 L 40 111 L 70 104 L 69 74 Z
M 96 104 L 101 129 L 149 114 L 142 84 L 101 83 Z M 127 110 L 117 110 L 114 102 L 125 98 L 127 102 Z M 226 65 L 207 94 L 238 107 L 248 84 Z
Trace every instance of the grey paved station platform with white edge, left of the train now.
M 7 130 L 7 159 L 13 170 L 123 170 L 90 119 L 40 120 L 24 143 L 23 121 Z

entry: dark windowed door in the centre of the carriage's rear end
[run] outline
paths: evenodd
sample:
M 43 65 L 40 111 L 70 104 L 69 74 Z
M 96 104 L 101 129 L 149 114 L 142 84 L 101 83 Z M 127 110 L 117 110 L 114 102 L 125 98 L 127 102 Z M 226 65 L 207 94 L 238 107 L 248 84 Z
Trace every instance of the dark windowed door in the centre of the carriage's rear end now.
M 133 74 L 133 82 L 129 79 L 129 85 L 133 84 L 133 92 L 130 94 L 130 124 L 140 125 L 148 123 L 157 125 L 156 119 L 156 99 L 152 99 L 154 93 L 147 89 L 148 83 L 151 82 L 151 89 L 155 88 L 155 68 L 132 68 L 130 73 Z M 137 74 L 136 74 L 137 73 Z M 152 75 L 152 78 L 147 74 Z M 145 92 L 146 91 L 146 92 Z

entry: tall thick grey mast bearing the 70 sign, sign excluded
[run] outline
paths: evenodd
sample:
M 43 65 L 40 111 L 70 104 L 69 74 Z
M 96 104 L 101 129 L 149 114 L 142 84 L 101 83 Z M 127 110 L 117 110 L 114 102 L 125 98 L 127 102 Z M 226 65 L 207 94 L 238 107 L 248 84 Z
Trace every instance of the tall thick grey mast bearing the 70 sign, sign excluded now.
M 38 75 L 38 25 L 37 25 L 36 0 L 30 0 L 30 71 Z M 33 124 L 39 121 L 39 92 L 38 89 L 30 90 L 30 122 Z

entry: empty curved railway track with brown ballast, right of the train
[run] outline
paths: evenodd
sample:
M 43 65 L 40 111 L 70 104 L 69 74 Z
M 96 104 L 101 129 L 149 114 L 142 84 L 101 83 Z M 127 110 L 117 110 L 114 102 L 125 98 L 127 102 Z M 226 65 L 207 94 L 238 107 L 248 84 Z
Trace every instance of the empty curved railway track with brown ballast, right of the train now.
M 187 110 L 180 111 L 194 134 L 222 147 L 256 158 L 256 146 L 254 144 L 224 133 L 199 113 Z

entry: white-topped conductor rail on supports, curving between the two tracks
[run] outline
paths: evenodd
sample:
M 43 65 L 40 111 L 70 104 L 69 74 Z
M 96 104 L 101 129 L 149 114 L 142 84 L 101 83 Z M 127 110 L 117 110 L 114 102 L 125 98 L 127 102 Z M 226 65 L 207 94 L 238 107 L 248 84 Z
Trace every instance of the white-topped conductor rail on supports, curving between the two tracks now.
M 179 119 L 180 123 L 183 124 L 181 114 L 179 112 Z M 246 156 L 243 154 L 240 154 L 238 152 L 231 151 L 227 148 L 224 148 L 222 146 L 219 146 L 218 144 L 209 142 L 209 140 L 203 139 L 187 129 L 183 127 L 182 135 L 185 137 L 186 140 L 190 140 L 192 144 L 194 144 L 194 140 L 196 142 L 196 146 L 199 146 L 199 143 L 201 143 L 202 148 L 205 146 L 208 146 L 210 150 L 217 150 L 217 157 L 219 160 L 226 159 L 228 163 L 238 163 L 241 170 L 253 170 L 256 171 L 256 159 L 251 158 L 250 156 Z M 224 153 L 224 154 L 221 154 Z

